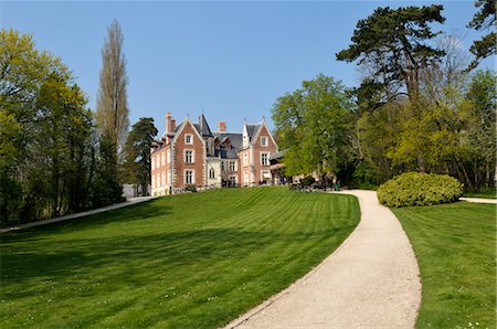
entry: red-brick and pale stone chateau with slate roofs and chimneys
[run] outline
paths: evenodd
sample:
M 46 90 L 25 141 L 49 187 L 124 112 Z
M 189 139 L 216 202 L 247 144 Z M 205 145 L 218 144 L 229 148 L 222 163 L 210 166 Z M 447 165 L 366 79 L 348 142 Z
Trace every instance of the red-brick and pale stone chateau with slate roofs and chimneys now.
M 243 125 L 243 132 L 228 132 L 219 123 L 212 132 L 201 115 L 193 124 L 179 125 L 166 115 L 166 131 L 151 147 L 151 195 L 182 192 L 186 188 L 211 189 L 272 183 L 269 157 L 277 145 L 264 119 Z

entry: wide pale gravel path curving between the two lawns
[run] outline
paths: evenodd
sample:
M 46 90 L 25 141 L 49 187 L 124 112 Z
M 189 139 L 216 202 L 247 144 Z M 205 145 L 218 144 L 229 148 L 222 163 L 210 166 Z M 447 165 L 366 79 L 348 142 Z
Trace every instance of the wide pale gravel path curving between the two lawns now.
M 361 222 L 343 244 L 287 289 L 226 328 L 413 328 L 419 267 L 396 217 L 373 191 L 356 195 Z

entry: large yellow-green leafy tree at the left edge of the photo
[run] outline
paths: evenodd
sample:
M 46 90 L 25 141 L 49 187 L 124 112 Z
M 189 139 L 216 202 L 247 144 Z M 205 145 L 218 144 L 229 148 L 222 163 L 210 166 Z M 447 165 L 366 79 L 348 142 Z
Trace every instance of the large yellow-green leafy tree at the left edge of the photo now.
M 13 30 L 0 71 L 0 225 L 91 208 L 95 127 L 72 73 Z

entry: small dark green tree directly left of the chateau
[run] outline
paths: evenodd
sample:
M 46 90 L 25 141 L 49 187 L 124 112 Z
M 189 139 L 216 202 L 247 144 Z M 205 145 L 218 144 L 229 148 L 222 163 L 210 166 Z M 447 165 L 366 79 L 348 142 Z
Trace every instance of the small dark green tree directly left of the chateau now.
M 148 195 L 150 147 L 157 132 L 154 118 L 140 118 L 126 141 L 127 171 L 131 182 L 141 187 L 141 195 Z

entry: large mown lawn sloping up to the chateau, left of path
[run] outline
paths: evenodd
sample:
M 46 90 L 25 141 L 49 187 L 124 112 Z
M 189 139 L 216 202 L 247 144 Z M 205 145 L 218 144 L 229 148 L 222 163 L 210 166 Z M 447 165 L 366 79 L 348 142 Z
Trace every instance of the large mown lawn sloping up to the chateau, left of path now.
M 353 197 L 225 189 L 10 233 L 0 322 L 218 327 L 306 274 L 359 216 Z

